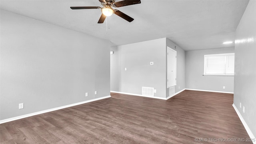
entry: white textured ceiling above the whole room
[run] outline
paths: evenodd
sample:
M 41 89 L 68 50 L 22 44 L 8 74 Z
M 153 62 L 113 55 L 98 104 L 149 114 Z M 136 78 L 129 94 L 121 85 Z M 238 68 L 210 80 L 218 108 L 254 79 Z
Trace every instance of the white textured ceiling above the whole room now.
M 116 0 L 120 1 L 120 0 Z M 235 30 L 248 0 L 141 0 L 116 8 L 134 18 L 113 14 L 98 24 L 100 9 L 71 10 L 70 6 L 101 6 L 98 0 L 1 0 L 1 9 L 36 20 L 104 38 L 114 45 L 169 38 L 184 50 L 234 46 Z M 233 41 L 224 45 L 225 41 Z

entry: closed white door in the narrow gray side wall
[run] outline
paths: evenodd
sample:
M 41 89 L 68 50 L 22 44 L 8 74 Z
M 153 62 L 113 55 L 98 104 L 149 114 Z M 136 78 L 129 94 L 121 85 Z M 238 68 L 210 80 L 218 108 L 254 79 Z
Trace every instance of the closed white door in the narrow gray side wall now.
M 167 46 L 167 88 L 176 86 L 177 52 Z

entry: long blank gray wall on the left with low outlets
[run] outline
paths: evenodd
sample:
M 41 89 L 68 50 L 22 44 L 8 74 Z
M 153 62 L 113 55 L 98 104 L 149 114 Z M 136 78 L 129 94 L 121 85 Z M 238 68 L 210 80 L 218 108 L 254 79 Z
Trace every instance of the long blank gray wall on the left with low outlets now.
M 109 96 L 109 51 L 107 40 L 1 10 L 0 120 Z

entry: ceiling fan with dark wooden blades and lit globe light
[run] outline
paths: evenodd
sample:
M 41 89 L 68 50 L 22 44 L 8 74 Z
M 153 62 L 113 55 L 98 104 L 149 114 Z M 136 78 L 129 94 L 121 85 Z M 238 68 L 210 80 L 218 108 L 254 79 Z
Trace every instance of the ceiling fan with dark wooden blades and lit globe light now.
M 114 9 L 119 8 L 122 6 L 129 6 L 133 4 L 140 4 L 140 0 L 122 0 L 120 2 L 115 2 L 115 0 L 99 0 L 101 5 L 103 6 L 102 8 L 99 6 L 72 6 L 70 7 L 72 10 L 79 10 L 79 9 L 101 9 L 101 16 L 98 21 L 98 24 L 103 23 L 104 20 L 106 19 L 107 16 L 111 16 L 113 13 L 120 16 L 121 18 L 127 20 L 128 22 L 132 22 L 134 19 L 131 18 L 130 16 L 124 14 L 123 12 Z

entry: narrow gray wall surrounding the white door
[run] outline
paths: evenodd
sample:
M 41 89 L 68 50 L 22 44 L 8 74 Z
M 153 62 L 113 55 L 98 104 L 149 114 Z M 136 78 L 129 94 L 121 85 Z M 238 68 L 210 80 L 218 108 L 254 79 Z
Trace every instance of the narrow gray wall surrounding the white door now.
M 178 92 L 185 88 L 185 51 L 168 38 L 166 38 L 166 46 L 177 52 L 177 85 L 175 86 L 175 92 Z M 166 89 L 166 96 L 169 96 L 169 88 Z

